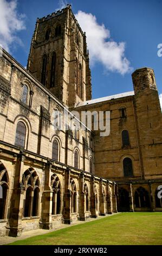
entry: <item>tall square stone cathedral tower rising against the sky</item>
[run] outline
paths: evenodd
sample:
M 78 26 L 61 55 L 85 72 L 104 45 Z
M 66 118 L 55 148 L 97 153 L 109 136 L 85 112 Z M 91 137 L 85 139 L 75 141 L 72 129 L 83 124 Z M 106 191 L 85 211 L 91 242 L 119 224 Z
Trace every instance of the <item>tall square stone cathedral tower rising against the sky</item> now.
M 71 5 L 37 19 L 27 69 L 69 107 L 91 99 L 86 34 Z

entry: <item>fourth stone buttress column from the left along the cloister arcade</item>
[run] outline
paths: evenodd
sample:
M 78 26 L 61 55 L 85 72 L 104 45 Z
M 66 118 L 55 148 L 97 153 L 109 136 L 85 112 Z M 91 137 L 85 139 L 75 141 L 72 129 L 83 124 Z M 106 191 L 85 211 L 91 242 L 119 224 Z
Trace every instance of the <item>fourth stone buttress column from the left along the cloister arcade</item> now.
M 80 190 L 79 190 L 79 220 L 86 221 L 85 209 L 85 192 L 84 192 L 84 174 L 80 174 Z

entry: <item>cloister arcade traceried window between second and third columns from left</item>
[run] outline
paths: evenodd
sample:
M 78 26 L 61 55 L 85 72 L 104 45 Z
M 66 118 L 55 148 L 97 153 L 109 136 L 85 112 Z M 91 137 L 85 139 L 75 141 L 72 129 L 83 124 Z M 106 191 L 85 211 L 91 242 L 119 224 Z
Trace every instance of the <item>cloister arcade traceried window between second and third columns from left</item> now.
M 61 183 L 56 174 L 51 176 L 51 187 L 53 188 L 52 215 L 61 212 Z

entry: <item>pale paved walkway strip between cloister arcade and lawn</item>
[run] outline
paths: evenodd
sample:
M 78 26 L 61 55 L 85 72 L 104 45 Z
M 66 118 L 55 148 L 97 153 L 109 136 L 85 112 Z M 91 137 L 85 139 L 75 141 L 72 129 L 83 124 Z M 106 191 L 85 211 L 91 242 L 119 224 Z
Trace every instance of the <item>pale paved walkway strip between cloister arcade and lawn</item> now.
M 115 215 L 115 214 L 108 214 L 106 216 L 99 216 L 98 218 L 88 218 L 86 220 L 86 222 L 97 221 L 97 220 L 100 220 L 101 218 L 106 218 L 106 217 L 109 217 L 109 216 L 112 216 L 112 215 Z M 85 223 L 85 221 L 74 221 L 70 225 L 68 225 L 68 224 L 56 225 L 55 228 L 53 228 L 51 230 L 46 230 L 46 229 L 30 230 L 30 231 L 23 232 L 22 235 L 18 236 L 18 237 L 1 236 L 0 237 L 0 245 L 5 245 L 7 243 L 15 242 L 17 240 L 23 240 L 23 239 L 26 239 L 26 238 L 31 237 L 31 236 L 47 234 L 47 233 L 53 232 L 53 231 L 58 230 L 58 229 L 68 228 L 70 226 L 79 225 L 79 224 L 82 224 L 82 223 Z

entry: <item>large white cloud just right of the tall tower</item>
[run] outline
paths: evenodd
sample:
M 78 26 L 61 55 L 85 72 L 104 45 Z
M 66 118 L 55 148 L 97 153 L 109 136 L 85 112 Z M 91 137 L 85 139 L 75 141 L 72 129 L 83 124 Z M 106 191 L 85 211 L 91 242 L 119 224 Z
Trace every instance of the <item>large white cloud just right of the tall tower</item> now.
M 124 75 L 132 70 L 129 60 L 125 57 L 125 42 L 115 42 L 105 25 L 100 25 L 92 14 L 78 11 L 75 14 L 82 30 L 86 32 L 90 64 L 101 62 L 106 70 Z

